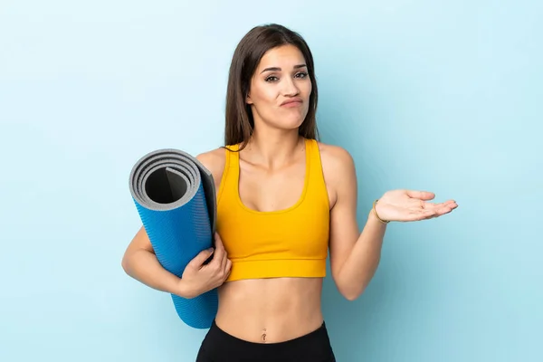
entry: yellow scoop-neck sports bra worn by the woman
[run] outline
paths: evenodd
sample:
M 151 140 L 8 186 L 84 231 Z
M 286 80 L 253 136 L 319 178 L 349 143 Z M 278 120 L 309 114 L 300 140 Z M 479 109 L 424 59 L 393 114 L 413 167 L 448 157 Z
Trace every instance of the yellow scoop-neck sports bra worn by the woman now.
M 329 197 L 319 145 L 305 139 L 305 184 L 298 202 L 279 211 L 243 205 L 238 191 L 237 145 L 226 149 L 217 193 L 217 232 L 232 261 L 226 281 L 277 277 L 324 277 L 329 247 Z

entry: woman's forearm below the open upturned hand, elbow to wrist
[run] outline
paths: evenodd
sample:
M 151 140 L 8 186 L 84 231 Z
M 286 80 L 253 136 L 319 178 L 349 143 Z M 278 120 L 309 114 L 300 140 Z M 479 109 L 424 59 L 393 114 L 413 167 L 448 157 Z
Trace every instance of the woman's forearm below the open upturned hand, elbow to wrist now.
M 338 289 L 348 300 L 356 300 L 373 278 L 386 232 L 386 224 L 370 212 L 367 223 L 338 275 Z

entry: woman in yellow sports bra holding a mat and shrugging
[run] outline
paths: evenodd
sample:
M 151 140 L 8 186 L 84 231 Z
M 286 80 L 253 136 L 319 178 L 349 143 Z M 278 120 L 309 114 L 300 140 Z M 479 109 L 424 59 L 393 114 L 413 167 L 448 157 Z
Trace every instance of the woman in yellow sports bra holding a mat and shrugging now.
M 233 54 L 226 146 L 197 157 L 218 190 L 214 250 L 177 278 L 157 262 L 143 227 L 129 244 L 123 267 L 149 287 L 186 298 L 218 287 L 197 361 L 334 361 L 320 309 L 328 252 L 338 291 L 355 300 L 376 271 L 387 223 L 457 206 L 431 204 L 428 192 L 389 191 L 368 207 L 360 233 L 353 160 L 316 140 L 317 95 L 300 35 L 277 24 L 253 28 Z

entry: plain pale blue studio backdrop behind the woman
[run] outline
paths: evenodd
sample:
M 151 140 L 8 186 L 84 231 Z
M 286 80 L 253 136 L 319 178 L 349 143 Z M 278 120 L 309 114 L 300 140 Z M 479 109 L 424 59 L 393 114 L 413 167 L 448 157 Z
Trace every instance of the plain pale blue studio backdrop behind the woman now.
M 367 291 L 324 312 L 338 361 L 541 361 L 543 6 L 537 1 L 0 2 L 0 360 L 193 361 L 204 329 L 122 271 L 129 171 L 222 145 L 254 25 L 310 43 L 324 142 L 358 215 L 395 188 L 459 208 L 390 224 Z

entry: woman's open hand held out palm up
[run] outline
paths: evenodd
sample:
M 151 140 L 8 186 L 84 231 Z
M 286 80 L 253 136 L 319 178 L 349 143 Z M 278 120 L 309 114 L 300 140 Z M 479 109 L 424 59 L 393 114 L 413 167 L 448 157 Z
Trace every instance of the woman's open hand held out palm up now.
M 410 222 L 449 214 L 458 205 L 454 200 L 430 203 L 435 195 L 427 191 L 387 191 L 376 204 L 376 214 L 386 221 Z

